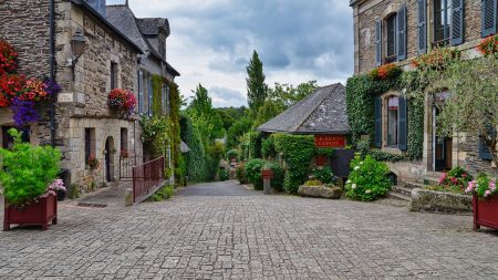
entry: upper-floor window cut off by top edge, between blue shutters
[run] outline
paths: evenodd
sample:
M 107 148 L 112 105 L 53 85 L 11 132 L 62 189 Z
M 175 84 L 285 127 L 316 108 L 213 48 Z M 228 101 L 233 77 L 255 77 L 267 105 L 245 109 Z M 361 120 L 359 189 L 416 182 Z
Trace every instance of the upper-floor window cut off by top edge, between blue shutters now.
M 449 40 L 452 9 L 449 0 L 434 0 L 434 43 L 445 45 Z

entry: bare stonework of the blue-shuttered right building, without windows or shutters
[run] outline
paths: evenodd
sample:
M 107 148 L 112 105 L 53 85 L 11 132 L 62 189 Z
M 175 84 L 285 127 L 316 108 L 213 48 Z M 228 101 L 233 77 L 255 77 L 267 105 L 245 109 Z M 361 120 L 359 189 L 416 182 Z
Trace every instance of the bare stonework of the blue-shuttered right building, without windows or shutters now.
M 465 0 L 464 1 L 464 42 L 459 45 L 450 46 L 461 51 L 463 59 L 471 59 L 478 55 L 475 46 L 480 42 L 481 38 L 481 1 L 480 0 Z M 366 73 L 375 68 L 376 48 L 375 48 L 375 21 L 383 22 L 383 52 L 386 45 L 385 35 L 385 20 L 393 13 L 396 13 L 403 4 L 406 4 L 406 22 L 407 22 L 407 45 L 406 60 L 397 61 L 404 70 L 409 71 L 409 62 L 418 55 L 418 30 L 417 30 L 417 1 L 416 0 L 352 0 L 350 1 L 353 8 L 354 17 L 354 65 L 355 73 Z M 434 0 L 427 0 L 427 28 L 426 40 L 427 46 L 430 49 L 434 45 Z M 385 53 L 382 54 L 384 59 Z M 384 62 L 384 60 L 383 60 Z M 385 62 L 384 62 L 385 63 Z M 390 95 L 385 93 L 383 96 Z M 390 165 L 393 173 L 400 175 L 400 179 L 409 179 L 424 176 L 427 173 L 434 172 L 435 168 L 435 134 L 434 134 L 434 100 L 429 96 L 425 101 L 425 116 L 424 116 L 424 155 L 421 163 L 396 163 Z M 408 107 L 409 110 L 409 107 Z M 385 112 L 383 111 L 383 149 L 390 153 L 401 153 L 401 151 L 386 147 L 385 135 L 386 125 Z M 409 120 L 408 120 L 409 122 Z M 452 155 L 453 167 L 464 166 L 473 173 L 496 172 L 491 162 L 479 158 L 479 138 L 466 134 L 455 135 L 452 139 Z M 409 165 L 409 166 L 408 166 Z

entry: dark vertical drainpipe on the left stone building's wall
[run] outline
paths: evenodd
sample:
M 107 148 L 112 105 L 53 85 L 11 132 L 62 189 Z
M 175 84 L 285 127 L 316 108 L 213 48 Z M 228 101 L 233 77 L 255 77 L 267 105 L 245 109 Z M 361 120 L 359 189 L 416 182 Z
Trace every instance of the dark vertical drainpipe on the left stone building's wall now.
M 54 34 L 54 19 L 55 18 L 55 3 L 54 0 L 50 0 L 50 80 L 55 81 L 55 34 Z M 50 103 L 50 145 L 55 146 L 55 102 L 56 94 L 52 96 Z

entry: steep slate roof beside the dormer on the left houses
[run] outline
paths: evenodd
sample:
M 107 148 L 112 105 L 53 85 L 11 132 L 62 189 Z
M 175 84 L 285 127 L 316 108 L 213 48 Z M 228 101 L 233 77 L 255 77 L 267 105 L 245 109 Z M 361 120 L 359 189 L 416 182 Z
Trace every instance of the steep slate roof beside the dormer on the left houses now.
M 175 76 L 180 74 L 168 62 L 163 60 L 163 56 L 157 50 L 145 39 L 142 29 L 139 28 L 141 19 L 137 19 L 133 11 L 126 4 L 111 4 L 107 6 L 107 20 L 120 29 L 124 34 L 132 39 L 138 46 L 141 46 L 143 53 L 151 53 L 155 59 L 166 63 L 166 69 Z M 166 19 L 163 19 L 167 22 Z M 168 24 L 169 30 L 169 24 Z M 169 32 L 169 31 L 168 31 Z

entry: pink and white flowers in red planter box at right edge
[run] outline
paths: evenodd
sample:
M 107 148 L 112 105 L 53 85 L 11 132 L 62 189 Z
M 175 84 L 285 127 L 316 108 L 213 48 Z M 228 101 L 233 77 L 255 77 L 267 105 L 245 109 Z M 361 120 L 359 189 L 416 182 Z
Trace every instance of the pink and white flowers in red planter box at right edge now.
M 496 179 L 480 175 L 468 183 L 465 193 L 473 194 L 474 230 L 479 230 L 480 226 L 498 229 Z

